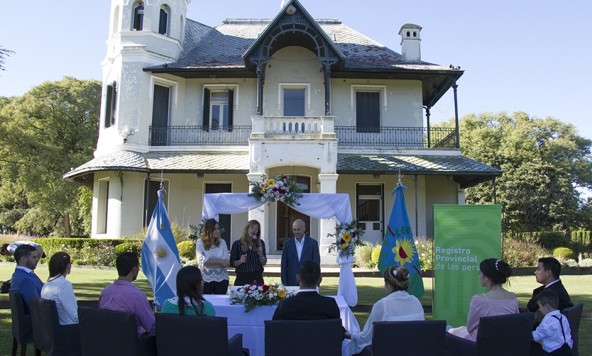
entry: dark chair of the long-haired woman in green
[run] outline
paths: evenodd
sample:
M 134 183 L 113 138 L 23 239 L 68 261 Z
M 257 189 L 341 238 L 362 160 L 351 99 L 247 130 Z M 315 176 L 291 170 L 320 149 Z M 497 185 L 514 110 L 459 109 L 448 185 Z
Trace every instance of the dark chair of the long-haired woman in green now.
M 158 356 L 243 355 L 243 334 L 229 340 L 226 318 L 163 313 L 155 318 Z

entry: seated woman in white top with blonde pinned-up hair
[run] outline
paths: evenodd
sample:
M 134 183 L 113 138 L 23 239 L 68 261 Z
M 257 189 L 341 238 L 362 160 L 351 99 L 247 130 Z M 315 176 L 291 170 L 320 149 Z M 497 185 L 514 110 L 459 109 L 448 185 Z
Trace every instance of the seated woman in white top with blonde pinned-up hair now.
M 351 352 L 360 353 L 372 343 L 374 321 L 422 321 L 424 308 L 420 300 L 407 293 L 409 288 L 409 269 L 392 266 L 384 273 L 387 296 L 374 304 L 370 317 L 361 333 L 346 333 L 351 339 Z

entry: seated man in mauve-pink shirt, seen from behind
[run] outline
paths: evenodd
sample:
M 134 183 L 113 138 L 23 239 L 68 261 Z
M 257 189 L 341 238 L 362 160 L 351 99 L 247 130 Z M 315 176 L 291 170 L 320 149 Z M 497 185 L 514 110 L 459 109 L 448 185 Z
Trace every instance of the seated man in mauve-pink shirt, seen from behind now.
M 146 294 L 131 284 L 140 272 L 140 261 L 135 252 L 125 252 L 115 261 L 119 278 L 105 287 L 99 296 L 99 308 L 110 311 L 136 313 L 138 338 L 144 333 L 155 335 L 155 320 Z

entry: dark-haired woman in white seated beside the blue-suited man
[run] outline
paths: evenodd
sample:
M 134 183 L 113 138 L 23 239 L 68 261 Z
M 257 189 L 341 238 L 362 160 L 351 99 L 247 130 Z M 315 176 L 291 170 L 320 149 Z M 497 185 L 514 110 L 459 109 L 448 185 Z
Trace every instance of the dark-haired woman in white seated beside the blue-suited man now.
M 55 301 L 57 317 L 61 325 L 78 323 L 78 303 L 72 282 L 66 279 L 72 270 L 70 255 L 56 252 L 49 263 L 50 277 L 41 288 L 41 298 Z

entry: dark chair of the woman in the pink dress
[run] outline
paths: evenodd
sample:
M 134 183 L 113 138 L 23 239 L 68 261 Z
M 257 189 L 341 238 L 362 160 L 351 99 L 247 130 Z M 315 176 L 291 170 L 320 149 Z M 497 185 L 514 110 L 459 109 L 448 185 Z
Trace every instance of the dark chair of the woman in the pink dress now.
M 477 342 L 446 333 L 446 356 L 524 356 L 530 351 L 535 313 L 485 316 L 479 320 Z

